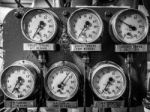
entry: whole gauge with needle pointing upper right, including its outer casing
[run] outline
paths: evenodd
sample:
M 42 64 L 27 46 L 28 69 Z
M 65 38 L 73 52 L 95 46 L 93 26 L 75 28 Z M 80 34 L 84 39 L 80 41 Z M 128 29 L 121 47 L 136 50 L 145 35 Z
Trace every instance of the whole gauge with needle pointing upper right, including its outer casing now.
M 57 62 L 45 78 L 48 95 L 59 101 L 73 98 L 79 89 L 79 69 L 70 62 Z

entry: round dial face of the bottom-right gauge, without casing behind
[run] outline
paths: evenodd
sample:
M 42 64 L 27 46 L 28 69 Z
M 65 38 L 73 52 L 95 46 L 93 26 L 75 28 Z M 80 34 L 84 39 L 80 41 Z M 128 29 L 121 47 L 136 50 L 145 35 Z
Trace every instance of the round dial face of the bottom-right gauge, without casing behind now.
M 115 100 L 125 91 L 125 75 L 117 68 L 104 67 L 94 75 L 92 86 L 99 98 L 103 100 Z

